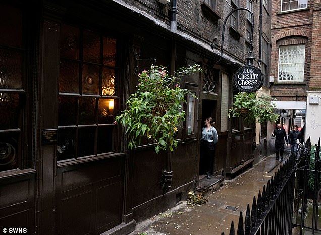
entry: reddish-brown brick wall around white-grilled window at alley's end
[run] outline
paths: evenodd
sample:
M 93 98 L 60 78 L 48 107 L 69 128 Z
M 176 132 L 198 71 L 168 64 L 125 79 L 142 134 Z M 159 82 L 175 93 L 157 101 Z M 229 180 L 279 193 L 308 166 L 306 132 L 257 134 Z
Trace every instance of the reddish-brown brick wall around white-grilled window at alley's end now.
M 319 1 L 319 0 L 317 0 Z M 312 62 L 312 34 L 314 28 L 313 9 L 314 1 L 308 0 L 308 8 L 297 11 L 282 12 L 281 0 L 272 1 L 272 53 L 271 72 L 274 76 L 274 85 L 271 86 L 271 95 L 279 101 L 306 101 L 306 90 L 310 86 L 310 77 L 314 70 Z M 279 46 L 305 44 L 305 65 L 303 83 L 277 83 Z M 314 60 L 317 60 L 314 57 Z

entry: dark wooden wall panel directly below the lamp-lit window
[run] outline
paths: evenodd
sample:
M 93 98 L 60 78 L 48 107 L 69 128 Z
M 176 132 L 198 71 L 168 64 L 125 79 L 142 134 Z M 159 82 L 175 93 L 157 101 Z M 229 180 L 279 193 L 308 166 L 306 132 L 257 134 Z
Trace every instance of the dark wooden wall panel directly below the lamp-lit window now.
M 100 234 L 122 223 L 124 159 L 58 168 L 57 234 Z

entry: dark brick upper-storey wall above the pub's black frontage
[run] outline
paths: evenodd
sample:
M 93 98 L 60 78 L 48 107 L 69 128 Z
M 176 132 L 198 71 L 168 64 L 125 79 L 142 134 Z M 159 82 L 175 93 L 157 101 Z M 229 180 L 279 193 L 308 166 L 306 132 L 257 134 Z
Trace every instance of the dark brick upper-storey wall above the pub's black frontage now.
M 155 19 L 165 22 L 168 26 L 169 21 L 169 8 L 170 5 L 162 5 L 157 0 L 124 0 L 131 6 L 146 12 L 148 15 Z M 221 49 L 222 27 L 225 17 L 231 11 L 229 4 L 224 1 L 217 1 L 217 13 L 221 19 L 217 20 L 206 14 L 201 8 L 202 1 L 184 0 L 177 1 L 177 30 L 191 35 L 194 38 L 210 45 L 213 38 L 216 36 L 218 39 L 215 43 L 215 48 Z M 230 0 L 228 0 L 230 3 Z M 270 2 L 270 1 L 269 1 Z M 259 33 L 259 3 L 260 1 L 253 1 L 253 14 L 254 14 L 254 36 L 253 36 L 253 55 L 258 59 L 258 33 Z M 246 7 L 246 0 L 240 0 L 238 7 Z M 246 11 L 239 12 L 239 32 L 241 37 L 232 36 L 229 27 L 229 20 L 225 27 L 224 38 L 224 53 L 245 63 L 245 58 L 248 57 L 249 44 L 245 40 L 246 32 Z M 271 14 L 268 14 L 263 8 L 263 34 L 269 41 L 271 38 L 270 29 Z

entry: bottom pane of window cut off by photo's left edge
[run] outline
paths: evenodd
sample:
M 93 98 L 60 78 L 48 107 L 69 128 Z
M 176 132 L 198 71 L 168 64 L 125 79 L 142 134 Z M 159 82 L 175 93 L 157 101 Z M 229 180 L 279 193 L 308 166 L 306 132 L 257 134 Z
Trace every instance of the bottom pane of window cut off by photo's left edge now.
M 19 133 L 0 134 L 0 171 L 17 168 Z

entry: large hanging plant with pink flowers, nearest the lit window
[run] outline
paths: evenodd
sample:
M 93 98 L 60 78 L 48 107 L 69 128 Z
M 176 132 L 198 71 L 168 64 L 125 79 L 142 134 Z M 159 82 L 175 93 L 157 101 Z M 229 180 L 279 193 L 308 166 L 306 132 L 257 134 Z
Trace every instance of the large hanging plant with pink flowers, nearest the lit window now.
M 130 149 L 140 145 L 142 138 L 155 144 L 155 151 L 171 151 L 177 147 L 174 133 L 179 124 L 185 120 L 182 103 L 190 90 L 182 89 L 178 82 L 180 77 L 202 71 L 200 65 L 188 66 L 169 76 L 163 66 L 152 65 L 138 77 L 137 92 L 130 95 L 127 108 L 116 117 L 116 122 L 126 127 Z

